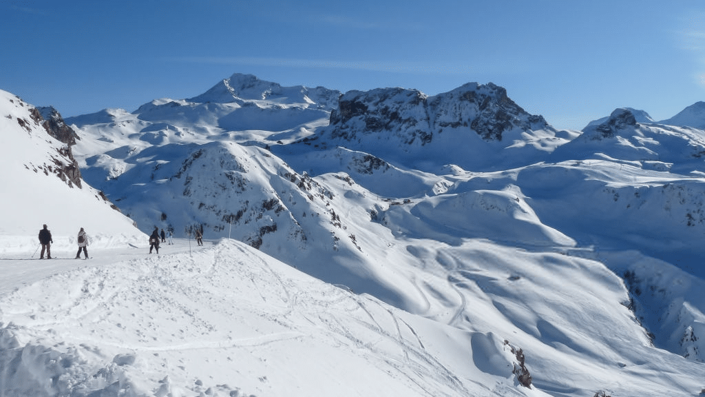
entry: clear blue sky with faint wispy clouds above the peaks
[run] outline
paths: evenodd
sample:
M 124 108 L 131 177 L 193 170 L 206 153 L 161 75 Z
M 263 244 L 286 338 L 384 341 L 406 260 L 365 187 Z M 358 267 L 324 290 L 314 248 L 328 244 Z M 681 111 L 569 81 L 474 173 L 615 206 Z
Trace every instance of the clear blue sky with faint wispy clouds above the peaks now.
M 64 117 L 232 73 L 341 90 L 507 89 L 558 128 L 705 100 L 705 1 L 0 0 L 0 89 Z

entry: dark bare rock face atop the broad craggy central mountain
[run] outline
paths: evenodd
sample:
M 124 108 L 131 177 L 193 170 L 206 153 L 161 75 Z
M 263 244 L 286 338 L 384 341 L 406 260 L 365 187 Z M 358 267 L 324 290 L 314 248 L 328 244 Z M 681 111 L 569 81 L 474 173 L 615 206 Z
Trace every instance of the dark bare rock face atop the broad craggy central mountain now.
M 468 83 L 428 97 L 418 90 L 382 88 L 350 91 L 331 113 L 331 138 L 360 141 L 364 135 L 393 134 L 404 145 L 424 146 L 443 131 L 460 129 L 484 141 L 502 141 L 508 131 L 544 129 L 541 116 L 532 116 L 489 83 Z

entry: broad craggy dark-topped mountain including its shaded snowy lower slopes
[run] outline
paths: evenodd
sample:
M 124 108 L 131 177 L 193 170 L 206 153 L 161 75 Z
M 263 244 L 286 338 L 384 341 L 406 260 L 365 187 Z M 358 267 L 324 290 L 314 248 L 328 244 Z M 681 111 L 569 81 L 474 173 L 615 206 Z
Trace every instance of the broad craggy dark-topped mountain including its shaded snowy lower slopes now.
M 492 83 L 468 83 L 433 97 L 403 88 L 350 91 L 339 104 L 329 126 L 303 144 L 343 146 L 416 169 L 496 170 L 531 164 L 566 142 L 557 136 L 565 134 Z

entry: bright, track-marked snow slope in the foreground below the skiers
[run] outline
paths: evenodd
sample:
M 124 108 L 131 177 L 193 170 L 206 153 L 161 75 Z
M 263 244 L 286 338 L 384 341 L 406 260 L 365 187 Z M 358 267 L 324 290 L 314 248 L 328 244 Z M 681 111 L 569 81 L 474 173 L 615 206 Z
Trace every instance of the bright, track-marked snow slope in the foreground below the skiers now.
M 472 352 L 465 332 L 245 244 L 191 248 L 0 261 L 22 283 L 0 292 L 0 396 L 526 395 L 499 338 Z M 56 266 L 18 271 L 35 262 Z

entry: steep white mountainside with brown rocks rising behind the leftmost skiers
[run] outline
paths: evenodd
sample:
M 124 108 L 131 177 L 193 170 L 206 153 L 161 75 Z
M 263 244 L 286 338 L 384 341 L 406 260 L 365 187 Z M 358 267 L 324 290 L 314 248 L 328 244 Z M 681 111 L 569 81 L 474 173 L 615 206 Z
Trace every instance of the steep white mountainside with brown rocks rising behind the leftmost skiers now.
M 1 144 L 6 150 L 0 158 L 5 186 L 0 206 L 2 251 L 34 250 L 44 224 L 56 242 L 75 239 L 80 227 L 94 231 L 96 244 L 109 244 L 116 237 L 143 238 L 133 220 L 83 182 L 72 152 L 76 136 L 58 112 L 0 91 L 0 114 Z

